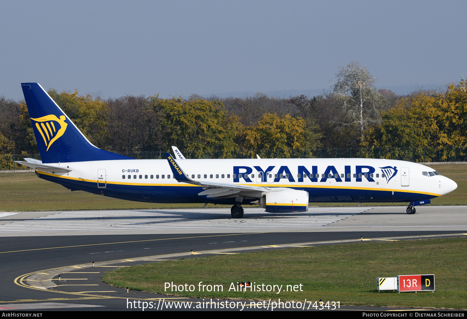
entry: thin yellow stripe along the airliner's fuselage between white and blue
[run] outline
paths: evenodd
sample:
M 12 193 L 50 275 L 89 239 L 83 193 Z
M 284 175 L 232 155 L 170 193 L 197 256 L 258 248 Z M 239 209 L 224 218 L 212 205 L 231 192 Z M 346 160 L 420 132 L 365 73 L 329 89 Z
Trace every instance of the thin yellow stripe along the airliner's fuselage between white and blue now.
M 40 168 L 37 168 L 36 170 L 40 170 Z M 92 182 L 96 183 L 97 180 L 85 180 L 83 178 L 77 178 L 77 177 L 70 177 L 66 175 L 58 175 L 58 174 L 52 174 L 49 172 L 43 172 L 39 171 L 41 174 L 45 175 L 50 175 L 54 177 L 59 177 L 59 178 L 64 178 L 68 180 L 80 180 L 80 181 L 87 181 L 87 182 Z M 161 183 L 127 183 L 127 182 L 117 182 L 117 181 L 106 181 L 107 184 L 116 184 L 116 185 L 128 185 L 128 186 L 178 186 L 178 187 L 201 187 L 193 184 L 186 184 L 186 183 L 178 183 L 177 184 L 161 184 Z M 301 188 L 329 188 L 329 189 L 356 189 L 356 190 L 368 190 L 368 191 L 385 191 L 385 192 L 400 192 L 400 193 L 414 193 L 414 194 L 425 194 L 425 195 L 431 195 L 431 196 L 442 196 L 441 194 L 435 194 L 435 193 L 428 193 L 428 192 L 419 192 L 415 190 L 408 190 L 408 189 L 396 189 L 396 188 L 370 188 L 370 187 L 352 187 L 352 186 L 324 186 L 324 185 L 265 185 L 265 184 L 233 184 L 233 185 L 238 185 L 238 186 L 257 186 L 257 187 L 301 187 Z M 296 204 L 294 204 L 296 205 Z M 298 205 L 298 204 L 297 204 Z

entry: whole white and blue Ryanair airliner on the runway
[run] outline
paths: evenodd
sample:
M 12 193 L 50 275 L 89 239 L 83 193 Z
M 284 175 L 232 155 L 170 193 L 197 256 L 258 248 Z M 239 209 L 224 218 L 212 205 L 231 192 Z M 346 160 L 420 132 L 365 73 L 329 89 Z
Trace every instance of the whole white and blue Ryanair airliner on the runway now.
M 18 163 L 74 190 L 130 201 L 258 204 L 267 212 L 305 212 L 309 202 L 409 202 L 457 184 L 430 167 L 393 159 L 132 159 L 92 145 L 38 83 L 21 83 L 41 159 Z

